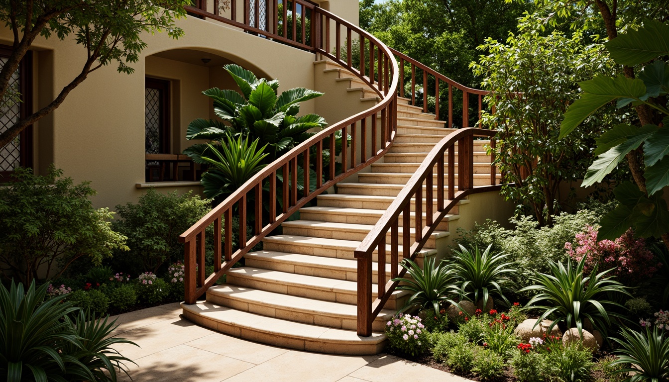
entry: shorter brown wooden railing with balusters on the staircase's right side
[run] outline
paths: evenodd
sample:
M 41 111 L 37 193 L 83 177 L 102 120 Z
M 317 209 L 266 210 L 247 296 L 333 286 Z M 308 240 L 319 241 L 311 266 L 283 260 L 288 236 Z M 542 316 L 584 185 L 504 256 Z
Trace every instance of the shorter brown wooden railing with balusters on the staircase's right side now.
M 355 250 L 358 261 L 358 335 L 371 335 L 372 322 L 379 314 L 389 296 L 395 290 L 397 282 L 386 281 L 403 277 L 406 270 L 399 270 L 400 256 L 402 259 L 414 260 L 437 225 L 458 203 L 472 193 L 496 191 L 501 189 L 496 184 L 496 168 L 490 164 L 490 185 L 474 187 L 474 137 L 494 137 L 495 131 L 482 128 L 461 128 L 448 134 L 427 154 L 425 160 L 411 175 L 407 184 L 399 192 L 390 207 L 381 215 L 367 237 Z M 455 192 L 455 147 L 458 145 L 458 192 Z M 490 144 L 494 147 L 494 140 Z M 446 157 L 448 155 L 448 157 Z M 448 158 L 448 172 L 444 171 L 444 159 Z M 437 180 L 436 211 L 433 197 L 434 168 Z M 448 199 L 444 198 L 444 177 L 448 175 Z M 425 193 L 423 196 L 423 185 Z M 411 199 L 415 203 L 415 236 L 411 240 Z M 423 203 L 425 203 L 425 221 L 423 222 Z M 401 237 L 402 253 L 399 254 L 399 220 L 402 219 L 403 232 Z M 391 274 L 387 277 L 385 270 L 386 237 L 390 232 L 391 240 Z M 377 298 L 372 301 L 372 254 L 377 251 L 378 290 Z

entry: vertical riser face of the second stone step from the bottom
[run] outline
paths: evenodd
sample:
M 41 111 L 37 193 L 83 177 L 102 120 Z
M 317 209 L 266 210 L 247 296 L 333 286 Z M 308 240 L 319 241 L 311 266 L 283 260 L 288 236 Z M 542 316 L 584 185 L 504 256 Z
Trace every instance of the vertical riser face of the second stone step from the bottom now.
M 318 312 L 281 309 L 276 306 L 267 306 L 257 301 L 237 300 L 235 298 L 228 298 L 227 296 L 220 296 L 213 293 L 207 293 L 207 301 L 236 310 L 243 310 L 244 312 L 262 314 L 263 316 L 302 322 L 304 324 L 347 330 L 356 330 L 357 328 L 356 317 L 327 316 L 325 314 L 318 314 Z M 384 325 L 385 320 L 374 320 L 372 323 L 372 330 L 375 332 L 382 332 L 384 330 Z

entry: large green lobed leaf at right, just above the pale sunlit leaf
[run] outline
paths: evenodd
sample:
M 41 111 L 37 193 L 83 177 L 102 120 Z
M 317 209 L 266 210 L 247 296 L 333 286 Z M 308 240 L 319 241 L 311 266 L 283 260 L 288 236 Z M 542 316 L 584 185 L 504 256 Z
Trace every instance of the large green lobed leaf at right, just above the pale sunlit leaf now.
M 560 126 L 560 138 L 569 135 L 585 118 L 616 98 L 640 99 L 646 94 L 646 86 L 639 79 L 623 76 L 615 78 L 595 76 L 592 80 L 580 82 L 583 96 L 569 106 Z

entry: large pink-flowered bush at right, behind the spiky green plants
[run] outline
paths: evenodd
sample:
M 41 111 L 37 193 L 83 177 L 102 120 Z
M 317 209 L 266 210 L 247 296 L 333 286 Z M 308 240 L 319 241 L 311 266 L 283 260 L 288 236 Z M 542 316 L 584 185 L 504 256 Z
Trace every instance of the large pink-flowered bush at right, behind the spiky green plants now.
M 613 274 L 624 284 L 646 281 L 662 267 L 662 263 L 646 248 L 646 241 L 635 238 L 632 229 L 613 242 L 597 242 L 597 229 L 587 225 L 585 232 L 577 233 L 575 244 L 565 243 L 565 250 L 576 261 L 585 256 L 583 270 L 586 275 L 599 263 L 599 268 L 603 270 L 613 268 Z

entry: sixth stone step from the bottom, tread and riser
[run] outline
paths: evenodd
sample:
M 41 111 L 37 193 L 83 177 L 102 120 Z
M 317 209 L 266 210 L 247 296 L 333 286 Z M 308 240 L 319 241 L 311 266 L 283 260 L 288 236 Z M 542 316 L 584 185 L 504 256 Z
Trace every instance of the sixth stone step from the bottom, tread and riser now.
M 347 195 L 355 196 L 355 195 Z M 318 203 L 320 205 L 320 202 Z M 328 207 L 345 207 L 342 205 L 332 205 Z M 436 211 L 436 207 L 435 210 Z M 363 241 L 374 227 L 369 224 L 350 224 L 350 223 L 334 223 L 331 221 L 313 221 L 313 220 L 292 220 L 284 221 L 281 224 L 283 233 L 286 235 L 300 235 L 311 237 L 323 237 L 325 239 L 338 240 L 358 240 Z M 411 228 L 411 239 L 415 239 L 415 229 Z M 403 233 L 402 227 L 399 227 L 399 236 Z M 429 240 L 425 243 L 424 248 L 437 248 L 436 240 L 440 237 L 450 235 L 448 231 L 434 231 L 430 235 Z M 386 235 L 386 242 L 390 242 L 390 232 Z

